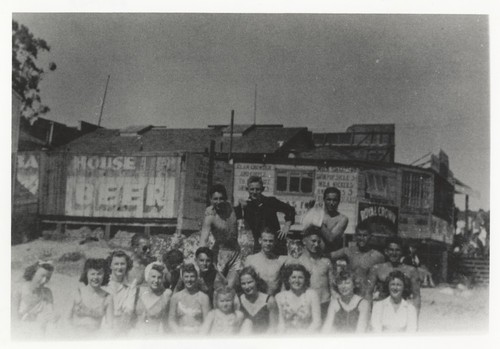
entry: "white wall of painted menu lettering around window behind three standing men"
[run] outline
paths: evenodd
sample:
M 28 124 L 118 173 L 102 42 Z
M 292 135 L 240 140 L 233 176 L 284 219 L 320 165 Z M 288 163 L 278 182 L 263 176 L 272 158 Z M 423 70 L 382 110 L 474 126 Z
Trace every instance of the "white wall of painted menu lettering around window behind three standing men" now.
M 294 195 L 293 193 L 277 193 L 275 186 L 276 171 L 293 170 L 294 172 L 314 172 L 314 183 L 310 195 Z M 274 164 L 235 164 L 234 171 L 234 198 L 235 204 L 239 199 L 248 198 L 246 191 L 247 180 L 250 176 L 260 176 L 263 179 L 266 196 L 276 196 L 281 201 L 295 207 L 295 225 L 292 229 L 302 229 L 301 221 L 307 212 L 306 204 L 310 200 L 316 200 L 316 205 L 323 206 L 323 192 L 328 187 L 337 187 L 341 191 L 339 212 L 346 215 L 349 225 L 346 234 L 353 234 L 357 222 L 357 196 L 358 196 L 358 170 L 350 167 L 326 167 L 315 166 L 293 166 Z M 279 214 L 278 218 L 284 223 L 284 216 Z

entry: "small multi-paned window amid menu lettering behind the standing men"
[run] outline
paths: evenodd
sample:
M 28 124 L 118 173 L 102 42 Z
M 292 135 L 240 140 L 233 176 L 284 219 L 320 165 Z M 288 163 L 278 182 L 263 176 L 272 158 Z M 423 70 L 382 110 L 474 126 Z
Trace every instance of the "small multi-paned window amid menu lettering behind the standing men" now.
M 312 194 L 314 171 L 277 170 L 276 192 L 280 194 Z

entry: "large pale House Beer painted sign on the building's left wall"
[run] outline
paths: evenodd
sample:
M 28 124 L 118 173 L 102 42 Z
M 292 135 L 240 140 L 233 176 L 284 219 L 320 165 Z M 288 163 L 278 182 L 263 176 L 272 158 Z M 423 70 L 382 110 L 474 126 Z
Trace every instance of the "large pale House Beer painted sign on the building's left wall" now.
M 65 214 L 173 218 L 178 157 L 73 156 Z

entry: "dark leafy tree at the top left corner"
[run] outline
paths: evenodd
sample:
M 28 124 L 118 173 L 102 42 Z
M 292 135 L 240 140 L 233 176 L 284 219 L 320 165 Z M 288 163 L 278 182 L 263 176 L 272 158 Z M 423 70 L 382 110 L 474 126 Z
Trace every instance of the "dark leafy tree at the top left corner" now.
M 35 38 L 26 26 L 12 21 L 12 88 L 21 96 L 21 115 L 28 119 L 50 110 L 40 98 L 39 85 L 45 70 L 37 59 L 43 51 L 50 51 L 45 40 Z M 56 64 L 49 63 L 48 69 L 54 71 Z

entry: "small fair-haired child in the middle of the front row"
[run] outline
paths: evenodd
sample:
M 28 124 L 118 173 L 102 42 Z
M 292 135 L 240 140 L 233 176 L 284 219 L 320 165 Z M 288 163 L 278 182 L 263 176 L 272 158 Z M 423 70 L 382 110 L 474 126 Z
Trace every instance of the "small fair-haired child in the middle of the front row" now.
M 223 286 L 214 294 L 215 308 L 211 310 L 203 327 L 202 334 L 238 334 L 249 333 L 251 322 L 245 319 L 243 313 L 235 308 L 236 292 L 232 287 Z

